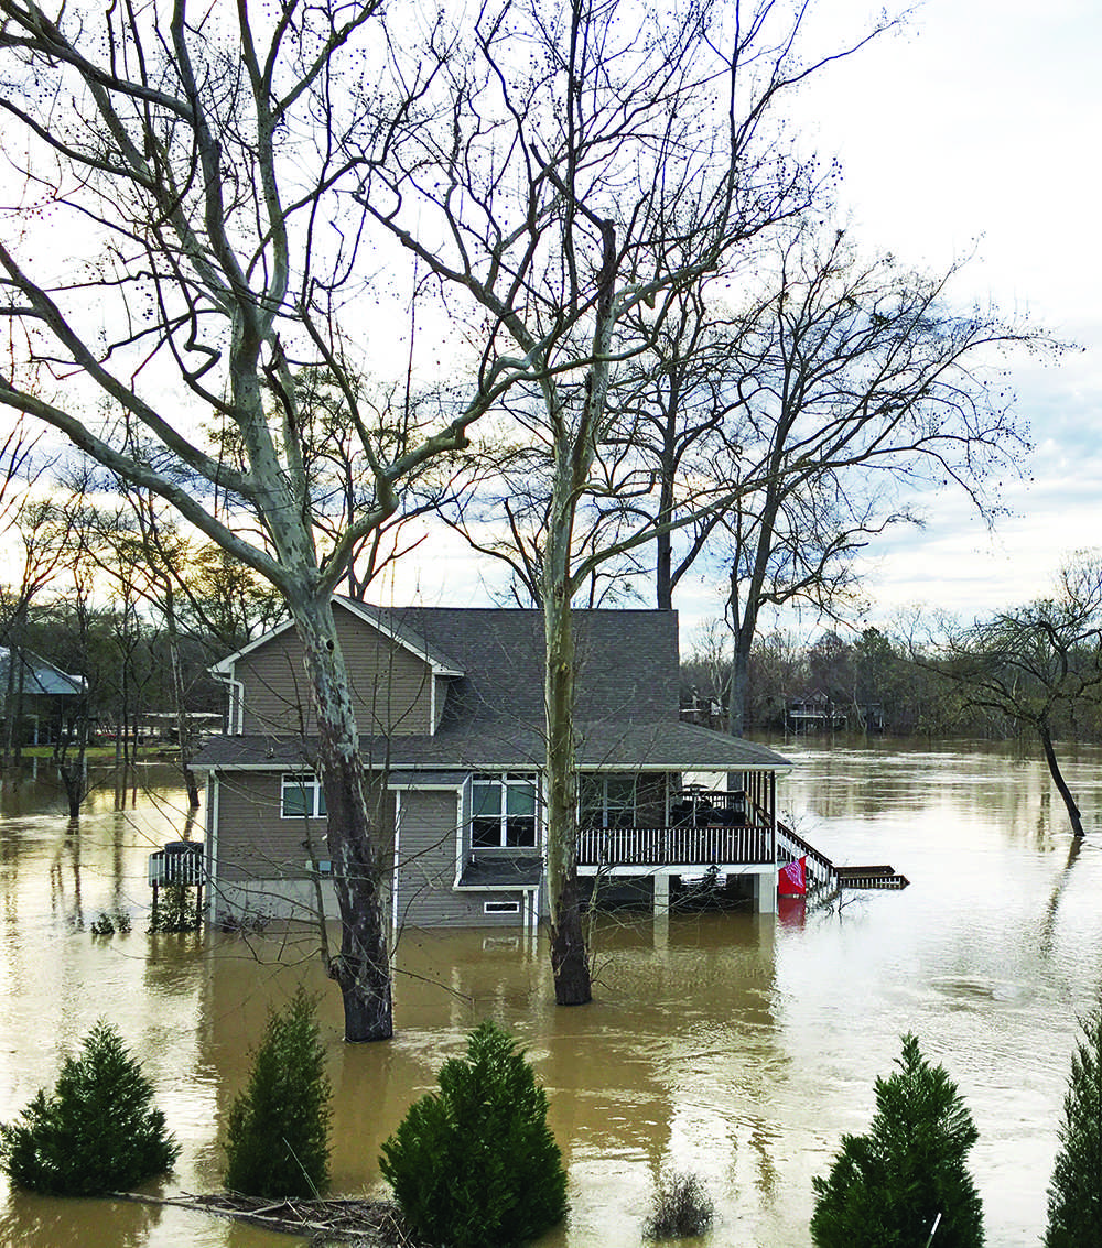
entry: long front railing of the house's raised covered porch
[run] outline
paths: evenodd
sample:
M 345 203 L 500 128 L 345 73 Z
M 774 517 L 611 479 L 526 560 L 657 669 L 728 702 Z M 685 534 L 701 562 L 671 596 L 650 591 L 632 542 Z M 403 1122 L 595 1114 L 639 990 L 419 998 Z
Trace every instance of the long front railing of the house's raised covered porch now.
M 579 866 L 711 866 L 773 862 L 773 831 L 761 825 L 719 827 L 583 827 Z

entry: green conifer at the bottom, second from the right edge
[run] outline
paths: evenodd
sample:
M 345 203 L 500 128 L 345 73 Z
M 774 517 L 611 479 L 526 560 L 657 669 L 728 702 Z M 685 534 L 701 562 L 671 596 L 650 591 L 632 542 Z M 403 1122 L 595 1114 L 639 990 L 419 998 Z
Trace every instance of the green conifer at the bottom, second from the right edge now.
M 819 1248 L 980 1248 L 983 1209 L 965 1159 L 978 1133 L 945 1068 L 904 1036 L 900 1070 L 876 1081 L 865 1136 L 844 1136 L 816 1178 L 811 1238 Z M 940 1221 L 939 1221 L 940 1216 Z

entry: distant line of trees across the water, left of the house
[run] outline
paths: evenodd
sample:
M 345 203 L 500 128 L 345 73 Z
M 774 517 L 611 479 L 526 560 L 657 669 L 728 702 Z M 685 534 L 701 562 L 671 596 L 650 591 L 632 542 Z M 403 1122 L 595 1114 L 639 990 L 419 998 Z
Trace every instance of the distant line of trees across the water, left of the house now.
M 12 519 L 19 575 L 0 585 L 7 760 L 32 740 L 96 738 L 129 758 L 151 724 L 178 739 L 182 716 L 223 709 L 210 665 L 281 617 L 278 595 L 253 573 L 117 480 L 27 497 Z M 51 681 L 51 669 L 74 683 Z M 64 690 L 42 693 L 44 675 Z

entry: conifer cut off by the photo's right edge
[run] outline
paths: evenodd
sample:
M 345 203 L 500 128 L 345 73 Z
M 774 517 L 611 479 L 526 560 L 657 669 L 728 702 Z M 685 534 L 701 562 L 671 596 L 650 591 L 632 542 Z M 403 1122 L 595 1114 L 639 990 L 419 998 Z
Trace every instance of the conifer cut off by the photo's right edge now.
M 1048 1188 L 1045 1248 L 1102 1244 L 1102 1008 L 1082 1022 Z

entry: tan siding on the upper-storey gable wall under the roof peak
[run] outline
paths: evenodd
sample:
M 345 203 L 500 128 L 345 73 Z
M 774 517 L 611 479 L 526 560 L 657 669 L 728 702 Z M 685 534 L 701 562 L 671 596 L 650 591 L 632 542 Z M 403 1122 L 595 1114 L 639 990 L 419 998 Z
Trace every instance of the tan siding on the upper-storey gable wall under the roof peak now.
M 337 635 L 352 685 L 359 731 L 422 735 L 436 729 L 429 664 L 334 604 Z M 242 731 L 311 736 L 315 716 L 302 643 L 293 629 L 240 658 L 235 679 L 245 686 Z M 442 684 L 442 681 L 441 681 Z M 441 688 L 441 698 L 444 689 Z

